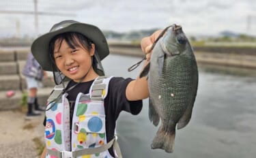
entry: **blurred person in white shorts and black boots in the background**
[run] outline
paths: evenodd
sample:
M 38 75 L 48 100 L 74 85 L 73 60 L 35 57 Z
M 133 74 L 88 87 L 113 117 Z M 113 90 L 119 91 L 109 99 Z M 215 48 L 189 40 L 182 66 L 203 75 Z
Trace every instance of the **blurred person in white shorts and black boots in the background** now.
M 27 116 L 26 118 L 34 118 L 40 116 L 40 112 L 44 111 L 38 104 L 38 89 L 42 87 L 42 79 L 46 76 L 46 72 L 42 70 L 38 61 L 35 60 L 32 53 L 29 52 L 23 75 L 26 78 L 28 98 L 27 98 Z

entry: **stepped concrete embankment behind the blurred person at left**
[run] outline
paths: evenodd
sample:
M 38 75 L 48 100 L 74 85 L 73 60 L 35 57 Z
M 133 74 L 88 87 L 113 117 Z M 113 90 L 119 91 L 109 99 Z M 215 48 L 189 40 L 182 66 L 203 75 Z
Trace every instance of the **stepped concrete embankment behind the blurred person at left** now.
M 23 92 L 27 91 L 25 77 L 21 74 L 27 59 L 26 50 L 0 50 L 0 110 L 20 108 Z M 53 78 L 43 80 L 44 87 L 38 91 L 40 104 L 46 104 L 46 98 L 54 86 Z M 6 97 L 7 91 L 14 91 L 12 97 Z

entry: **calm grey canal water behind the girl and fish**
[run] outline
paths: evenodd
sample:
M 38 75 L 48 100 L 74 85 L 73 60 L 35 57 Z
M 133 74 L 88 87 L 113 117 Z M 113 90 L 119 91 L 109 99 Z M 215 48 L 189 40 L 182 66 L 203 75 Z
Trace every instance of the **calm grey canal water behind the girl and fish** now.
M 136 78 L 127 69 L 138 57 L 111 54 L 102 61 L 106 75 Z M 151 149 L 158 127 L 148 119 L 148 99 L 133 116 L 122 112 L 118 141 L 125 158 L 255 158 L 256 71 L 199 65 L 199 87 L 190 123 L 176 131 L 173 153 Z

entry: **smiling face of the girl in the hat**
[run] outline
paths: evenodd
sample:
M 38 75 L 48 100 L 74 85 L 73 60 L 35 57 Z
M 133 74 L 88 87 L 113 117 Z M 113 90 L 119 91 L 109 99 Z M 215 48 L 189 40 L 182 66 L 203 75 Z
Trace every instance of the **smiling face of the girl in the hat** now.
M 94 80 L 98 76 L 91 66 L 95 45 L 91 44 L 91 49 L 86 50 L 77 39 L 76 41 L 79 46 L 70 48 L 65 39 L 62 42 L 56 40 L 53 52 L 55 63 L 59 71 L 74 82 Z M 85 78 L 81 80 L 83 77 Z

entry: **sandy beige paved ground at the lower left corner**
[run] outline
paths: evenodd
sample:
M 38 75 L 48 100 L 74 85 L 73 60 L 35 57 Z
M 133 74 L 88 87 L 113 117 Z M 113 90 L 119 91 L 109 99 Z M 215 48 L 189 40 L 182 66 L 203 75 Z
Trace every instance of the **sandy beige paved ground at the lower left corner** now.
M 25 113 L 18 110 L 0 111 L 0 157 L 39 157 L 37 146 L 43 143 L 43 120 L 44 114 L 27 120 Z

